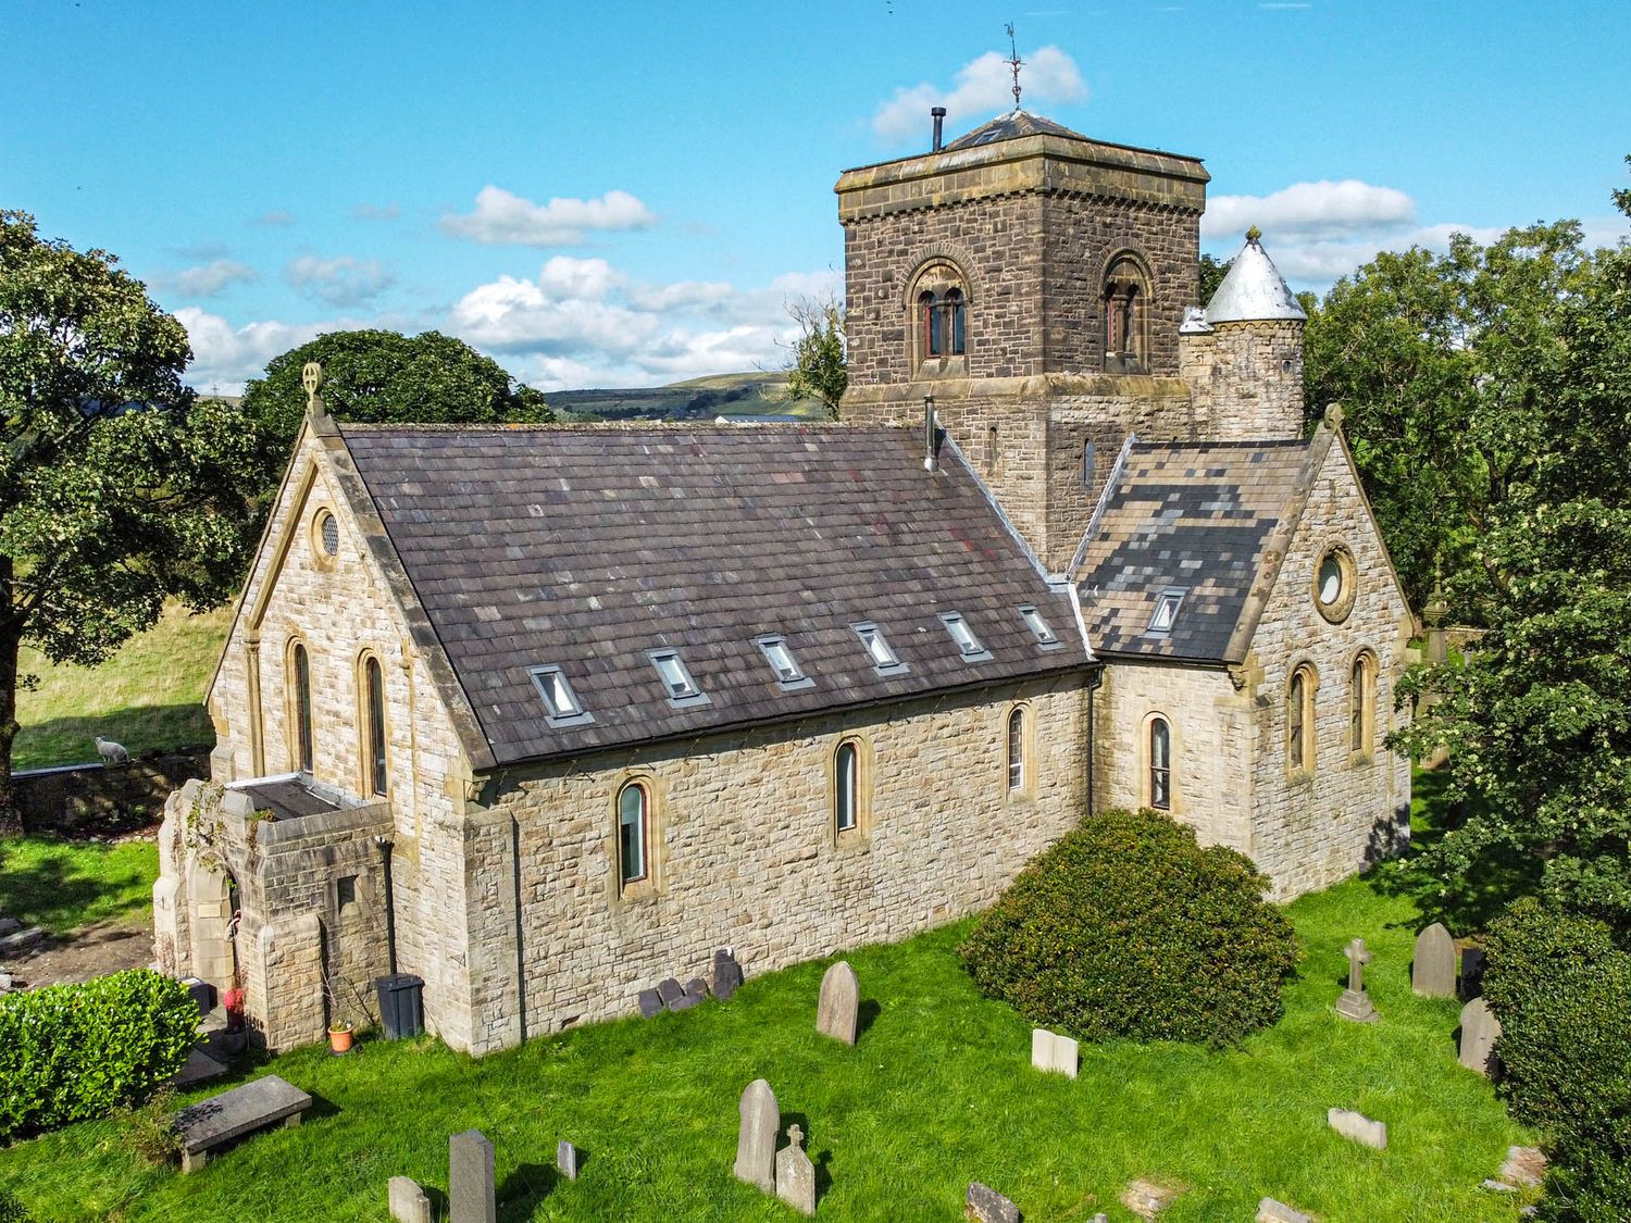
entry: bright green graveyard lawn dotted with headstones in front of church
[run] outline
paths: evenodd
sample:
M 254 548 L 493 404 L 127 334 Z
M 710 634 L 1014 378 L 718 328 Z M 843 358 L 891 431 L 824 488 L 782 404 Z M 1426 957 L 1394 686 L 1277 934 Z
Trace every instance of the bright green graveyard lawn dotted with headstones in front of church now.
M 763 1076 L 783 1127 L 807 1135 L 827 1218 L 951 1223 L 983 1181 L 1031 1223 L 1129 1220 L 1117 1197 L 1134 1177 L 1187 1185 L 1163 1223 L 1248 1220 L 1264 1195 L 1329 1223 L 1517 1218 L 1478 1184 L 1527 1135 L 1455 1063 L 1456 1004 L 1411 995 L 1412 900 L 1350 881 L 1290 915 L 1305 954 L 1287 1014 L 1240 1050 L 1085 1047 L 1078 1080 L 1039 1075 L 1026 1022 L 961 970 L 959 923 L 850 954 L 855 1049 L 812 1032 L 825 965 L 806 964 L 729 1004 L 481 1062 L 429 1039 L 351 1058 L 297 1050 L 271 1070 L 318 1101 L 300 1128 L 183 1177 L 129 1155 L 117 1122 L 93 1122 L 0 1151 L 0 1184 L 39 1220 L 378 1220 L 393 1174 L 444 1194 L 449 1135 L 478 1127 L 497 1146 L 502 1220 L 785 1220 L 731 1177 L 737 1099 Z M 1331 1009 L 1355 934 L 1375 952 L 1373 1026 Z M 1390 1148 L 1337 1138 L 1331 1106 L 1388 1122 Z M 551 1171 L 558 1138 L 587 1153 L 576 1182 Z

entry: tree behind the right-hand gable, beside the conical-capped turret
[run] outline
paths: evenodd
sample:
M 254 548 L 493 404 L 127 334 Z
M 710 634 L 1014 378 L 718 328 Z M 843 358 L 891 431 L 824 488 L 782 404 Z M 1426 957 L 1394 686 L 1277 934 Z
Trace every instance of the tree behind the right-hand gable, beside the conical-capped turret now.
M 1562 311 L 1590 266 L 1577 222 L 1509 230 L 1489 246 L 1458 233 L 1447 254 L 1383 251 L 1308 311 L 1308 409 L 1342 404 L 1412 605 L 1425 603 L 1440 558 L 1452 572 L 1470 563 L 1535 463 L 1540 372 L 1561 354 Z

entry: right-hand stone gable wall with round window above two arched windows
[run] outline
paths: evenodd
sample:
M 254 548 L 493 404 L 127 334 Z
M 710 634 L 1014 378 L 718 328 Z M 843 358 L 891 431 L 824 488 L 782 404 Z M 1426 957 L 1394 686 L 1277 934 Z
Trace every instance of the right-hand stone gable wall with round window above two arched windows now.
M 1359 581 L 1352 612 L 1341 625 L 1328 623 L 1313 597 L 1315 569 L 1333 543 L 1352 551 Z M 1253 856 L 1274 876 L 1277 898 L 1346 879 L 1409 840 L 1409 760 L 1388 752 L 1383 739 L 1409 716 L 1395 713 L 1393 691 L 1412 625 L 1364 492 L 1336 444 L 1316 476 L 1248 659 L 1258 709 Z M 1362 649 L 1378 662 L 1375 750 L 1354 757 L 1349 677 Z M 1287 768 L 1285 698 L 1293 670 L 1305 662 L 1318 675 L 1315 768 L 1293 776 Z

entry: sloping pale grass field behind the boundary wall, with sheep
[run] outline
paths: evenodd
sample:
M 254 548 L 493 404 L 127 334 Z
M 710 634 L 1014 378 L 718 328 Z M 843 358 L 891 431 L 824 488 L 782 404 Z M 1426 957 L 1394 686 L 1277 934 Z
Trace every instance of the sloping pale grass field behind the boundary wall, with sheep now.
M 20 670 L 38 675 L 39 687 L 18 693 L 23 729 L 11 748 L 11 766 L 93 762 L 96 735 L 124 744 L 132 755 L 214 744 L 204 687 L 230 625 L 230 608 L 194 616 L 168 607 L 152 629 L 99 667 L 59 667 L 24 649 Z

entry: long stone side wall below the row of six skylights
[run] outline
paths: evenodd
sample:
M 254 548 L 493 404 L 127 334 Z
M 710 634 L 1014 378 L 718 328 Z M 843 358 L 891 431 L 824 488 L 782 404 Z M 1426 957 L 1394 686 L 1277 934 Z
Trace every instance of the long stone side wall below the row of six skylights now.
M 628 1014 L 664 977 L 706 975 L 718 947 L 754 977 L 988 903 L 1081 819 L 1083 685 L 1075 675 L 938 696 L 509 783 L 468 840 L 484 887 L 466 910 L 471 1052 Z M 1018 796 L 1005 762 L 1014 701 L 1031 709 Z M 846 734 L 868 745 L 871 817 L 835 837 L 830 770 Z M 621 897 L 613 804 L 636 776 L 656 796 L 657 882 Z

